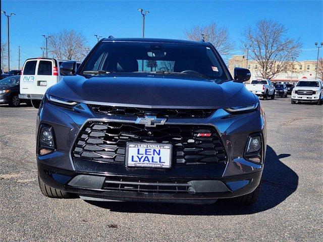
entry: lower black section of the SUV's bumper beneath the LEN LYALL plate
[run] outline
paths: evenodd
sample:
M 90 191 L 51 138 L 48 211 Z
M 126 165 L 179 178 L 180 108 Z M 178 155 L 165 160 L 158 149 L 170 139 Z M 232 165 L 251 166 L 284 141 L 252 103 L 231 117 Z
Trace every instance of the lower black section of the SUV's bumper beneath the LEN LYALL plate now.
M 109 175 L 68 171 L 40 163 L 38 163 L 38 174 L 46 185 L 62 191 L 77 193 L 80 197 L 85 197 L 89 200 L 212 203 L 220 198 L 242 196 L 254 191 L 260 183 L 262 170 L 251 174 L 219 179 L 196 180 L 193 177 L 186 177 L 187 184 L 190 186 L 187 193 L 109 191 L 103 189 L 104 180 Z M 135 178 L 145 179 L 151 177 L 136 176 Z

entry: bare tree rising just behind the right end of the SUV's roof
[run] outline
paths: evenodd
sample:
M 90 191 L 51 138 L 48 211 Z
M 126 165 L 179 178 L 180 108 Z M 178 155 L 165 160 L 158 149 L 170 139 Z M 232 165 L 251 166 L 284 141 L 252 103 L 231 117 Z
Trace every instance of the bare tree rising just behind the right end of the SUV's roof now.
M 205 41 L 213 44 L 222 55 L 228 55 L 234 48 L 234 42 L 230 38 L 228 29 L 214 22 L 209 25 L 196 25 L 190 30 L 186 30 L 184 34 L 187 39 L 196 41 L 203 37 Z

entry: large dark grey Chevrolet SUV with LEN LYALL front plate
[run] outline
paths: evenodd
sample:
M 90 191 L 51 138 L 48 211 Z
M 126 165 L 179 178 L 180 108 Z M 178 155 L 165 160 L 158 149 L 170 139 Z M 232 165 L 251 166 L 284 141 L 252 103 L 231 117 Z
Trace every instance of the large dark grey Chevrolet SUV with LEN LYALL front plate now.
M 206 42 L 113 37 L 74 66 L 62 64 L 66 76 L 38 111 L 44 196 L 256 201 L 267 132 L 259 99 L 243 84 L 249 70 L 235 68 L 232 78 Z

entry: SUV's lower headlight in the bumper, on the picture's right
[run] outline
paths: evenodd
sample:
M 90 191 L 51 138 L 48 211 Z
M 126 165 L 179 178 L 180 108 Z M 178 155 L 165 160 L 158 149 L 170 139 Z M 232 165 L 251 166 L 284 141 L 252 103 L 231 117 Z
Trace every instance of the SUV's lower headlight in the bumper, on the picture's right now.
M 249 161 L 262 163 L 262 135 L 260 133 L 249 136 L 244 156 Z

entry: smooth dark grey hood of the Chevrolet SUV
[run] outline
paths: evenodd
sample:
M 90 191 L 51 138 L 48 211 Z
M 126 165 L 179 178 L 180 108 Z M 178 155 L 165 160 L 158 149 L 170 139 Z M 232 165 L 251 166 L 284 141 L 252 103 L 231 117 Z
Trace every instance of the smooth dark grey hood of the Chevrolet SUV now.
M 67 76 L 49 94 L 88 104 L 168 108 L 223 108 L 258 100 L 242 83 L 217 84 L 196 76 L 151 73 Z

